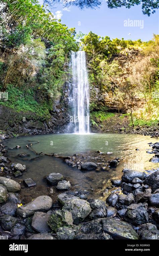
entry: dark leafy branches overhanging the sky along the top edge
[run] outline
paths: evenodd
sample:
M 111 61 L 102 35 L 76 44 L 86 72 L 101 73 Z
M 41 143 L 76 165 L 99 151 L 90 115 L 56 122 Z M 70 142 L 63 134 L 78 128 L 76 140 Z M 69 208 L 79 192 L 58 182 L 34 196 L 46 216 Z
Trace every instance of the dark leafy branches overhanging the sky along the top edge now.
M 64 6 L 78 6 L 81 9 L 84 8 L 98 8 L 102 0 L 44 0 L 45 5 L 52 6 L 54 3 L 62 2 Z M 155 13 L 155 9 L 159 8 L 158 0 L 107 0 L 108 8 L 118 8 L 125 6 L 126 8 L 130 8 L 134 5 L 142 4 L 142 11 L 144 14 L 150 16 L 151 12 Z

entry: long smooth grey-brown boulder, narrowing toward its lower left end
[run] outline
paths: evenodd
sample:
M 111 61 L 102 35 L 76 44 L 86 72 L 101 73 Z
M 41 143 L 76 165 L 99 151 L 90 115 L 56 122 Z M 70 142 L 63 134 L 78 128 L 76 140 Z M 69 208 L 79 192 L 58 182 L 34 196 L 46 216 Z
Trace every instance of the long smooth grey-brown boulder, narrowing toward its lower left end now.
M 35 212 L 49 211 L 52 207 L 52 199 L 49 196 L 38 196 L 33 201 L 19 207 L 17 215 L 26 218 L 32 216 Z

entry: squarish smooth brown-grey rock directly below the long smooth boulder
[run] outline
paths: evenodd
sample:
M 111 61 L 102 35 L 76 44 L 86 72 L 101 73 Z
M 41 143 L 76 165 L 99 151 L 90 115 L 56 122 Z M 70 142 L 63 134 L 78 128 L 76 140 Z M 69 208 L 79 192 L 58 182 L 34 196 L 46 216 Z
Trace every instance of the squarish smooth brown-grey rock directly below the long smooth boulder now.
M 48 226 L 49 214 L 43 212 L 36 212 L 32 220 L 32 228 L 39 232 L 50 232 L 51 229 Z

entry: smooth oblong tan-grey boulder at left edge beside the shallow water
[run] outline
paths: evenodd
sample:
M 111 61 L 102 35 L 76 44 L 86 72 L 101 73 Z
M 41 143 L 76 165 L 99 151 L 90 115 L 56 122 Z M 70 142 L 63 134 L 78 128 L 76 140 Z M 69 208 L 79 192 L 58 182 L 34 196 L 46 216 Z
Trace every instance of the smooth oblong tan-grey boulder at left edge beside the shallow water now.
M 21 189 L 19 183 L 5 177 L 0 177 L 0 184 L 5 186 L 9 192 L 17 192 Z

